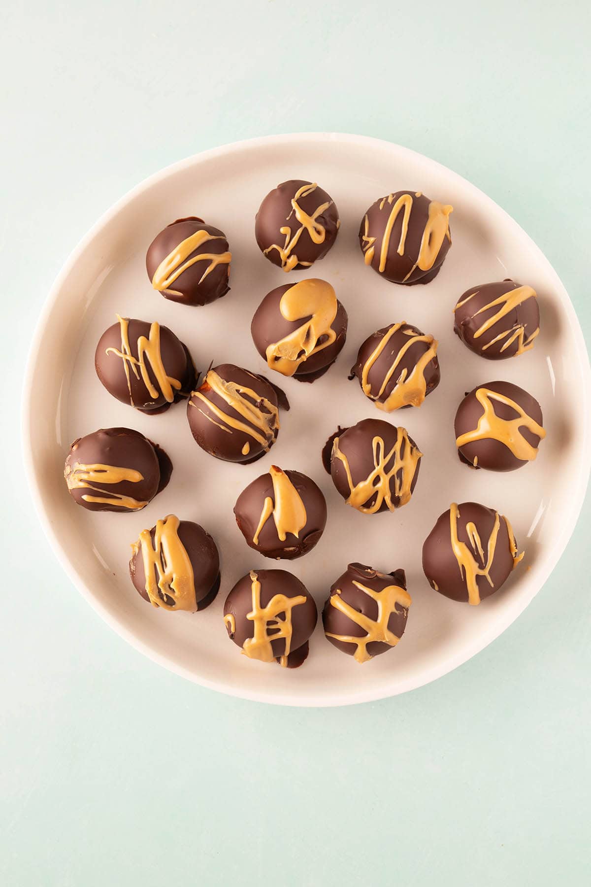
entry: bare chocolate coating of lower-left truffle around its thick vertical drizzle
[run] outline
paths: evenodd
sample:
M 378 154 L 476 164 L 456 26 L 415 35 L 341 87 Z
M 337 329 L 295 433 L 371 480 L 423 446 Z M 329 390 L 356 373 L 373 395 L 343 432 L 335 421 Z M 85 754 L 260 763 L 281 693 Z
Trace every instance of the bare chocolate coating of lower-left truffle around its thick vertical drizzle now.
M 154 543 L 154 530 L 152 527 L 152 545 Z M 189 555 L 193 568 L 193 581 L 195 584 L 195 599 L 197 610 L 209 607 L 220 589 L 220 555 L 214 539 L 209 533 L 192 521 L 181 521 L 178 528 L 178 538 L 183 543 L 185 551 Z M 145 590 L 144 559 L 141 550 L 134 553 L 129 561 L 129 576 L 136 586 L 136 590 L 144 600 L 150 600 Z M 159 597 L 167 604 L 172 599 L 159 590 Z

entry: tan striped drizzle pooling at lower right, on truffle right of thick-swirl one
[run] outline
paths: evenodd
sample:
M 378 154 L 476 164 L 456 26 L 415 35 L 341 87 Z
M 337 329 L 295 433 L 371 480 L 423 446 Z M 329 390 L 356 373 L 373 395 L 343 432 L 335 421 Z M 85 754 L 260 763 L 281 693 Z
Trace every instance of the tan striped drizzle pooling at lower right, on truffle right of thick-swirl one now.
M 401 324 L 393 324 L 393 326 L 390 327 L 388 332 L 382 336 L 377 343 L 376 349 L 374 349 L 369 355 L 362 369 L 363 394 L 375 402 L 378 410 L 384 410 L 385 412 L 398 410 L 401 406 L 406 406 L 407 404 L 420 406 L 423 403 L 427 394 L 427 381 L 424 378 L 424 371 L 427 368 L 427 365 L 432 361 L 433 357 L 437 355 L 438 343 L 432 335 L 419 335 L 412 330 L 405 330 L 405 334 L 408 335 L 408 341 L 404 343 L 396 357 L 394 357 L 393 364 L 390 366 L 388 372 L 385 373 L 384 381 L 377 394 L 372 394 L 371 385 L 368 381 L 369 371 L 376 363 L 377 358 L 382 354 L 382 351 L 385 349 L 385 346 L 393 335 L 398 332 L 401 326 L 405 326 L 405 324 L 406 320 L 402 321 Z M 402 358 L 407 353 L 408 349 L 418 341 L 424 341 L 424 343 L 429 346 L 428 349 L 426 349 L 424 354 L 419 357 L 410 373 L 407 372 L 406 367 L 401 371 L 396 382 L 396 387 L 386 397 L 384 403 L 380 403 L 379 398 L 384 394 L 385 388 L 388 382 L 392 379 L 393 373 L 396 372 L 397 367 L 400 365 Z

